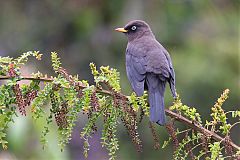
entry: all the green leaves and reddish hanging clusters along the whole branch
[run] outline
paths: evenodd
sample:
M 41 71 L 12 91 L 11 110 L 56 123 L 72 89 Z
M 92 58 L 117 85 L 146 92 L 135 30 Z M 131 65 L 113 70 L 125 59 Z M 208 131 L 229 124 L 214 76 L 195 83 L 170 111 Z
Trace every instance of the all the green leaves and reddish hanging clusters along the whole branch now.
M 144 115 L 149 116 L 150 108 L 146 91 L 141 97 L 136 96 L 135 93 L 130 96 L 123 95 L 119 72 L 109 66 L 101 66 L 98 70 L 94 63 L 90 63 L 89 66 L 95 85 L 89 85 L 88 81 L 79 80 L 78 75 L 69 75 L 61 67 L 60 58 L 56 52 L 51 52 L 52 67 L 57 74 L 55 77 L 49 78 L 40 72 L 32 74 L 32 77 L 23 77 L 20 68 L 21 65 L 26 64 L 30 56 L 41 60 L 42 54 L 38 51 L 29 51 L 16 59 L 0 57 L 0 76 L 10 77 L 5 84 L 0 86 L 0 143 L 3 149 L 7 149 L 6 130 L 9 123 L 13 122 L 14 116 L 17 115 L 17 109 L 19 108 L 20 112 L 25 115 L 25 108 L 30 106 L 34 120 L 41 117 L 45 120 L 40 137 L 43 148 L 47 145 L 47 135 L 53 129 L 53 124 L 57 127 L 58 144 L 63 150 L 71 140 L 79 113 L 83 113 L 88 118 L 80 133 L 80 137 L 84 140 L 85 158 L 91 149 L 89 139 L 97 131 L 97 122 L 100 120 L 103 120 L 101 143 L 107 149 L 110 160 L 116 159 L 119 150 L 117 128 L 120 122 L 126 127 L 137 151 L 142 151 L 138 124 Z M 23 79 L 29 80 L 30 83 L 19 83 Z M 44 83 L 40 83 L 41 81 Z M 184 105 L 178 95 L 170 107 L 173 111 L 171 113 L 176 114 L 177 117 L 172 116 L 174 120 L 170 120 L 171 123 L 168 122 L 166 125 L 169 138 L 164 141 L 162 148 L 173 141 L 173 159 L 176 160 L 187 158 L 215 160 L 226 159 L 229 156 L 237 157 L 239 151 L 235 151 L 236 147 L 232 145 L 230 131 L 239 124 L 240 111 L 224 111 L 222 105 L 228 98 L 228 94 L 229 90 L 226 89 L 218 98 L 211 108 L 212 119 L 206 121 L 205 124 L 202 123 L 197 109 Z M 169 111 L 167 113 L 169 115 Z M 228 118 L 237 121 L 230 124 L 227 115 Z M 181 120 L 190 122 L 190 125 L 188 124 L 190 127 L 180 131 L 180 127 L 176 127 L 174 122 L 182 122 Z M 149 124 L 155 142 L 154 148 L 158 149 L 160 144 L 157 130 L 152 122 Z M 214 135 L 225 137 L 218 140 L 219 137 L 216 139 L 215 136 L 214 139 Z

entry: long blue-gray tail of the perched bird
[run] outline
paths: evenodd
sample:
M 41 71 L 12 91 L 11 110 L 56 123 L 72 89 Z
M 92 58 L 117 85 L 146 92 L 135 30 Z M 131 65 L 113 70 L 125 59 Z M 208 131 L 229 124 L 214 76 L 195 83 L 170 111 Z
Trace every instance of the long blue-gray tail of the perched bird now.
M 164 111 L 164 91 L 166 82 L 159 80 L 159 84 L 156 88 L 151 88 L 151 84 L 149 85 L 150 120 L 159 125 L 164 125 L 166 123 Z

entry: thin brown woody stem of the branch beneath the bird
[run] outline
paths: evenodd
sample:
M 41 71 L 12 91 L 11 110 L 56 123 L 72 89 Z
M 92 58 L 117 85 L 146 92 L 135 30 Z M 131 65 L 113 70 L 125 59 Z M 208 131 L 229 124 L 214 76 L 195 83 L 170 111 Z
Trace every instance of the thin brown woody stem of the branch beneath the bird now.
M 12 77 L 10 76 L 0 76 L 0 80 L 7 80 L 7 79 L 11 79 Z M 49 78 L 49 77 L 38 77 L 38 78 L 35 78 L 35 77 L 32 77 L 32 76 L 20 76 L 18 78 L 18 80 L 39 80 L 39 81 L 45 81 L 45 82 L 51 82 L 53 81 L 53 78 Z M 80 88 L 86 88 L 86 86 L 84 85 L 80 85 L 79 86 Z M 97 92 L 100 92 L 100 93 L 103 93 L 103 94 L 107 94 L 107 95 L 110 95 L 110 96 L 113 96 L 113 93 L 108 91 L 108 90 L 104 90 L 104 89 L 96 89 Z M 122 94 L 122 93 L 119 93 L 121 96 L 127 98 L 126 95 Z M 187 125 L 188 127 L 206 135 L 206 136 L 209 136 L 211 138 L 213 138 L 214 140 L 216 141 L 224 141 L 224 138 L 219 136 L 218 134 L 194 123 L 193 121 L 183 117 L 182 115 L 178 114 L 178 113 L 175 113 L 173 111 L 170 111 L 169 109 L 165 109 L 165 112 L 166 112 L 166 115 Z M 230 145 L 235 149 L 235 150 L 240 150 L 240 147 L 238 145 L 236 145 L 235 143 L 233 142 L 230 142 Z

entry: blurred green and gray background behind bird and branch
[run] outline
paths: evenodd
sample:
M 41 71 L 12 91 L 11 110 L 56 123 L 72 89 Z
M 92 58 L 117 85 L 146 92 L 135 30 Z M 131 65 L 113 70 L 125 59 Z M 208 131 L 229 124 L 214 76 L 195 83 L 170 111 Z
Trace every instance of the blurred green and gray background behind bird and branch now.
M 149 23 L 157 39 L 170 52 L 176 72 L 177 91 L 182 101 L 194 106 L 206 118 L 210 107 L 225 88 L 230 98 L 226 110 L 240 106 L 240 31 L 239 0 L 9 0 L 0 1 L 0 56 L 17 57 L 22 52 L 39 50 L 40 62 L 31 61 L 25 74 L 40 70 L 52 75 L 50 52 L 57 51 L 63 67 L 71 74 L 93 83 L 89 62 L 109 65 L 121 73 L 123 93 L 131 88 L 125 72 L 127 39 L 114 28 L 129 20 Z M 171 105 L 169 89 L 166 106 Z M 86 116 L 84 116 L 86 117 Z M 49 135 L 49 146 L 42 150 L 39 137 L 43 121 L 31 116 L 18 117 L 8 131 L 9 149 L 0 159 L 12 160 L 79 160 L 83 159 L 79 133 L 86 118 L 80 116 L 73 139 L 64 152 L 57 146 L 56 126 Z M 144 152 L 137 153 L 123 126 L 119 160 L 172 159 L 172 148 L 153 149 L 153 140 L 145 118 L 140 125 Z M 90 141 L 88 160 L 107 159 L 100 145 L 100 131 Z M 54 131 L 55 129 L 55 131 Z M 236 127 L 232 134 L 240 143 Z M 160 143 L 166 130 L 158 127 Z

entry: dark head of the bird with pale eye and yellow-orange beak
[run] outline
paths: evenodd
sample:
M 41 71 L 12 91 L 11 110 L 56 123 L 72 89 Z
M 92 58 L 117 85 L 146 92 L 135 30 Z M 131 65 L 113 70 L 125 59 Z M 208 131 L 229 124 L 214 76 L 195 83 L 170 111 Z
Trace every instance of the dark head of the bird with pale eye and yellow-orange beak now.
M 153 36 L 149 25 L 141 20 L 130 21 L 125 25 L 124 28 L 116 28 L 115 30 L 125 33 L 128 41 L 141 38 L 142 36 Z

